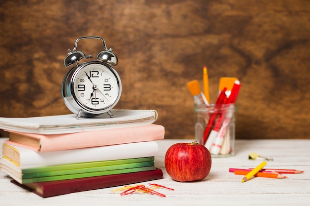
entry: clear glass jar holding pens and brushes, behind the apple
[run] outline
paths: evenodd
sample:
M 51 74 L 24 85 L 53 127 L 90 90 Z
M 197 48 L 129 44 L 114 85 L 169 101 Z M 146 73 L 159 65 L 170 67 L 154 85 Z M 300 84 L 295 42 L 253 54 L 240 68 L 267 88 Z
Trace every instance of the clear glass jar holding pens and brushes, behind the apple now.
M 212 157 L 235 155 L 235 113 L 235 104 L 195 106 L 195 139 Z

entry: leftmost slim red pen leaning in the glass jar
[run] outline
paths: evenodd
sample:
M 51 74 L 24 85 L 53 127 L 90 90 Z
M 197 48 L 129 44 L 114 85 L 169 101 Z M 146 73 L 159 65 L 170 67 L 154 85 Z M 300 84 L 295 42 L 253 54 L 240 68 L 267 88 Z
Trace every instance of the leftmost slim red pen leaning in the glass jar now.
M 222 105 L 225 104 L 225 101 L 227 100 L 227 97 L 225 94 L 226 90 L 227 90 L 227 88 L 224 87 L 223 90 L 219 93 L 219 95 L 216 99 L 215 105 L 214 105 L 214 113 L 211 114 L 211 117 L 208 121 L 208 124 L 207 124 L 205 132 L 204 132 L 204 144 L 207 147 L 207 149 L 210 149 L 210 147 L 212 146 L 212 140 L 208 139 L 208 136 L 212 130 L 215 119 L 217 118 L 218 115 L 220 115 L 220 113 L 218 113 L 218 109 L 220 109 L 222 107 Z M 208 148 L 208 146 L 209 146 L 209 148 Z

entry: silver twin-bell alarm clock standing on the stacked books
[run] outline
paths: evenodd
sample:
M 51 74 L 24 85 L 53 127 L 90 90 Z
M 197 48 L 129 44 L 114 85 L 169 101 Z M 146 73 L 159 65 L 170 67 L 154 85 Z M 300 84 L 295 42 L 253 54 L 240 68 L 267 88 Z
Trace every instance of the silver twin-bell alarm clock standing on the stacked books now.
M 85 39 L 98 39 L 103 42 L 104 50 L 99 52 L 96 60 L 90 61 L 92 55 L 86 56 L 76 50 L 77 43 Z M 81 62 L 82 59 L 89 61 Z M 101 37 L 81 37 L 75 41 L 73 50 L 68 49 L 64 66 L 73 67 L 66 73 L 61 84 L 61 93 L 68 109 L 80 117 L 95 117 L 105 112 L 112 118 L 111 109 L 117 104 L 122 84 L 117 72 L 111 67 L 118 63 L 112 49 L 107 49 Z

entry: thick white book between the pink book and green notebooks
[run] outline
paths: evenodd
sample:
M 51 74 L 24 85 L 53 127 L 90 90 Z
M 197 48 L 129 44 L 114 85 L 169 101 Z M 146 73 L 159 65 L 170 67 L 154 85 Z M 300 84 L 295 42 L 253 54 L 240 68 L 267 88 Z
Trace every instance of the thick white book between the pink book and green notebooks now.
M 4 143 L 2 159 L 12 162 L 20 169 L 26 169 L 52 165 L 155 157 L 157 152 L 158 145 L 155 141 L 42 153 Z M 3 161 L 0 159 L 0 162 Z

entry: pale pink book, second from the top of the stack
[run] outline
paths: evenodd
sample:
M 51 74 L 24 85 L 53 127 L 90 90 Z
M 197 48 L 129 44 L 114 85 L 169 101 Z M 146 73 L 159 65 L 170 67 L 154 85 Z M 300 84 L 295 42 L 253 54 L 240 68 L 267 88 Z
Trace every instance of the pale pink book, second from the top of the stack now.
M 164 138 L 164 127 L 158 124 L 111 128 L 67 134 L 34 134 L 9 131 L 11 145 L 37 152 L 70 150 L 106 145 L 146 142 Z

